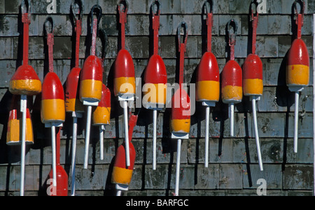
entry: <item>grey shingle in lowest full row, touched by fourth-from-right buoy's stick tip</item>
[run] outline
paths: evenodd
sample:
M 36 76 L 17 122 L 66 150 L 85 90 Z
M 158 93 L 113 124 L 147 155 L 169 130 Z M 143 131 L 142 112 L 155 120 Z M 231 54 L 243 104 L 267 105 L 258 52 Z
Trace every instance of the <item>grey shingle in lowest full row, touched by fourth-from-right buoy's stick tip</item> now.
M 218 189 L 219 187 L 219 177 L 220 169 L 218 164 L 209 164 L 208 168 L 204 165 L 196 165 L 195 169 L 195 190 L 210 190 Z M 197 171 L 197 172 L 196 172 Z

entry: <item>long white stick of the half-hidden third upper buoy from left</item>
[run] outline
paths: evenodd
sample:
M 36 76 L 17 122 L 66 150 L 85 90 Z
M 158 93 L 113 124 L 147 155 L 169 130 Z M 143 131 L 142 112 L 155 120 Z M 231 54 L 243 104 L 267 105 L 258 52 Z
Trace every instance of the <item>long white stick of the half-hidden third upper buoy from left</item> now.
M 76 133 L 78 128 L 78 118 L 73 117 L 72 130 L 72 157 L 71 157 L 71 196 L 76 194 Z

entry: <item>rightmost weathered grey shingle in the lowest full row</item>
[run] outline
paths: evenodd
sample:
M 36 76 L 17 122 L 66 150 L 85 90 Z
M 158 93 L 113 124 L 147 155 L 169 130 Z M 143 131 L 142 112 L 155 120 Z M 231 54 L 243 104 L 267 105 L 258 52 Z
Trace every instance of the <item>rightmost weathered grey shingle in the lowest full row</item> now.
M 286 165 L 283 172 L 283 190 L 311 190 L 313 167 L 309 165 Z

